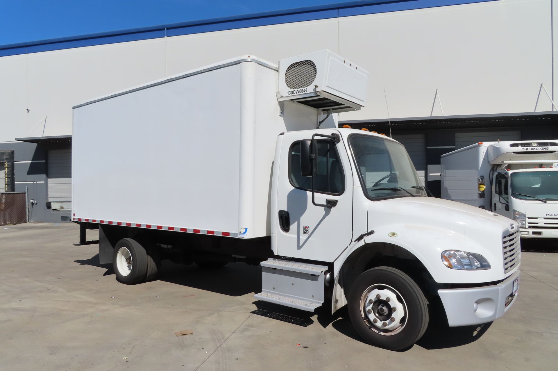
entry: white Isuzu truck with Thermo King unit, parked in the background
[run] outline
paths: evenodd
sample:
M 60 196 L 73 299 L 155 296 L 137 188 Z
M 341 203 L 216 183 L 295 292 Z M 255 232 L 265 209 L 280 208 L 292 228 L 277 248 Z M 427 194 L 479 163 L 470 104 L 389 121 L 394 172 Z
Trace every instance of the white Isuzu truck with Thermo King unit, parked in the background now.
M 440 163 L 442 199 L 507 216 L 522 238 L 558 238 L 558 139 L 479 142 Z

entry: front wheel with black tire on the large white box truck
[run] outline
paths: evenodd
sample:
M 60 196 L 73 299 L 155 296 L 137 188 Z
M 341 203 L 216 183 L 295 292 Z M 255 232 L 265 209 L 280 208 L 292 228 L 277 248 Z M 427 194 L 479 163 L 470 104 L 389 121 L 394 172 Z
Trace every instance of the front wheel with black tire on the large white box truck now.
M 428 302 L 419 286 L 391 267 L 372 268 L 357 277 L 350 287 L 348 311 L 367 343 L 389 350 L 415 344 L 429 322 Z

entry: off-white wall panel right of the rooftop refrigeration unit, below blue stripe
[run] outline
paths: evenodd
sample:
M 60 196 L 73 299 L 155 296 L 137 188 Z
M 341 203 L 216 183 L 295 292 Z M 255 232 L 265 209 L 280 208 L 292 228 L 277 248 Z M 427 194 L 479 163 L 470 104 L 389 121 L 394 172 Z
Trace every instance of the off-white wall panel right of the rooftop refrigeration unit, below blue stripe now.
M 393 118 L 430 115 L 435 89 L 445 115 L 532 112 L 552 84 L 550 0 L 340 18 L 339 40 L 371 73 L 366 107 L 344 120 L 387 118 L 383 88 Z

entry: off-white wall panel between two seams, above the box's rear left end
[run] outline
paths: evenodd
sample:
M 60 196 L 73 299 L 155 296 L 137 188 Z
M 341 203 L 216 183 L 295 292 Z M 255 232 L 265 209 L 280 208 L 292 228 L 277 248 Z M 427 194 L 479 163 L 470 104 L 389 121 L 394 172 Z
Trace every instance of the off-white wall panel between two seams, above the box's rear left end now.
M 34 53 L 27 58 L 28 122 L 34 126 L 46 115 L 45 136 L 71 134 L 73 105 L 165 76 L 164 38 Z M 30 136 L 42 136 L 42 129 L 39 125 Z

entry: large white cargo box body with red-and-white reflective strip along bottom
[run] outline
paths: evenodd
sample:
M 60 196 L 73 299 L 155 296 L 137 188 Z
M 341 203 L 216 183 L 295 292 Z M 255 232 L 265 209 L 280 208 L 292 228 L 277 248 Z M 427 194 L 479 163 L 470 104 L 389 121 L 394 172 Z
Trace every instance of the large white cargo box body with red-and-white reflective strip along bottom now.
M 318 120 L 277 83 L 246 56 L 74 107 L 73 220 L 270 235 L 276 138 Z

